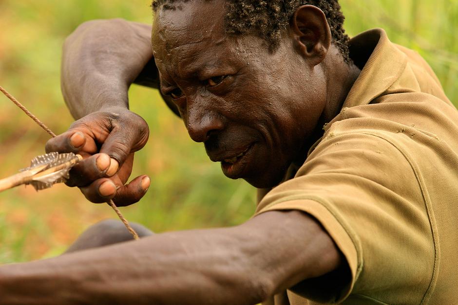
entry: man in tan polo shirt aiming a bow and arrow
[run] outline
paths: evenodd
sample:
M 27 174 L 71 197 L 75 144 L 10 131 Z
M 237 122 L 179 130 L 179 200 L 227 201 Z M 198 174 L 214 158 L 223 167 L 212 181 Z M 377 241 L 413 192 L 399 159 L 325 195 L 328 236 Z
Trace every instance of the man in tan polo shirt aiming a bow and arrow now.
M 2 267 L 0 303 L 458 303 L 458 114 L 418 54 L 382 30 L 348 41 L 333 0 L 153 8 L 153 54 L 150 29 L 122 20 L 67 40 L 78 120 L 47 150 L 85 157 L 69 184 L 91 201 L 137 201 L 149 178 L 124 183 L 148 128 L 127 90 L 159 79 L 210 160 L 260 188 L 256 215 Z M 116 228 L 70 252 L 127 239 Z

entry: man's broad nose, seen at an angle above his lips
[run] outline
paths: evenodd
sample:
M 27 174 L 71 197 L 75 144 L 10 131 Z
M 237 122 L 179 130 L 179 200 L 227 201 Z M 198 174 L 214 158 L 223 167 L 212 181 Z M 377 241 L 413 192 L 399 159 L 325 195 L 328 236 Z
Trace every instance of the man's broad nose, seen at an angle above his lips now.
M 188 108 L 188 133 L 195 142 L 205 142 L 211 135 L 224 128 L 221 117 L 210 111 L 196 107 Z

